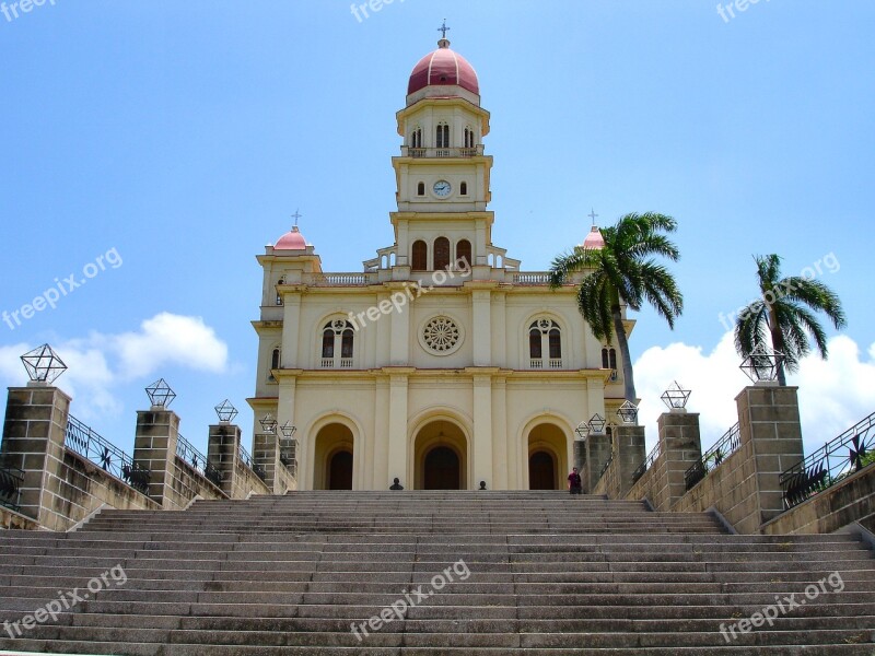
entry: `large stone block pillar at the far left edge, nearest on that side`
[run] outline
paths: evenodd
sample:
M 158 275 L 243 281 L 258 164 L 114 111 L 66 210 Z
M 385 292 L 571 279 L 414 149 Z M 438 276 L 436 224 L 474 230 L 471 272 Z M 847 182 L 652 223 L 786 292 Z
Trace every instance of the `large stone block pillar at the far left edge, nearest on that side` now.
M 52 530 L 69 524 L 55 511 L 55 500 L 59 500 L 56 493 L 62 480 L 70 400 L 57 387 L 36 383 L 10 387 L 3 424 L 3 461 L 24 471 L 19 497 L 21 513 Z

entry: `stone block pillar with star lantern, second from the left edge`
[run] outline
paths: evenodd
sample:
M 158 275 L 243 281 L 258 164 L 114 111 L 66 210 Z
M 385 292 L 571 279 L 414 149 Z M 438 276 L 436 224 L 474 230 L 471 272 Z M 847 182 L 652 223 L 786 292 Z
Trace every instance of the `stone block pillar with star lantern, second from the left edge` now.
M 137 412 L 133 437 L 133 465 L 149 471 L 149 497 L 164 509 L 177 509 L 174 502 L 173 471 L 176 467 L 176 441 L 179 418 L 172 410 L 152 406 Z

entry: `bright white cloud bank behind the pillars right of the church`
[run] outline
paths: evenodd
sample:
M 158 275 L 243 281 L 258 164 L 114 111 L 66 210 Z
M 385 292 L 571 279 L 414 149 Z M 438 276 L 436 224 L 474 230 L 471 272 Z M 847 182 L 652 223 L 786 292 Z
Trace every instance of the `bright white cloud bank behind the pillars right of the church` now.
M 665 410 L 660 396 L 673 380 L 692 390 L 687 409 L 701 413 L 702 448 L 738 421 L 735 397 L 750 384 L 738 364 L 732 332 L 726 332 L 710 353 L 685 343 L 653 347 L 642 353 L 634 372 L 649 446 L 656 443 L 656 418 Z M 808 454 L 875 411 L 875 343 L 868 348 L 867 361 L 862 361 L 861 350 L 851 338 L 833 337 L 829 340 L 829 360 L 815 354 L 805 358 L 788 383 L 800 387 L 800 415 Z

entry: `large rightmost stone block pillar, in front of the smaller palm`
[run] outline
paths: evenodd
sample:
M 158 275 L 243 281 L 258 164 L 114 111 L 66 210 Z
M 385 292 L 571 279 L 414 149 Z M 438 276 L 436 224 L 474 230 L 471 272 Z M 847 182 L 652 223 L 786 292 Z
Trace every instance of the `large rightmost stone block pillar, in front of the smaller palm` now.
M 749 445 L 754 458 L 759 506 L 759 524 L 739 523 L 738 532 L 755 532 L 784 509 L 781 473 L 804 457 L 797 391 L 797 387 L 760 383 L 745 387 L 735 398 L 742 448 Z

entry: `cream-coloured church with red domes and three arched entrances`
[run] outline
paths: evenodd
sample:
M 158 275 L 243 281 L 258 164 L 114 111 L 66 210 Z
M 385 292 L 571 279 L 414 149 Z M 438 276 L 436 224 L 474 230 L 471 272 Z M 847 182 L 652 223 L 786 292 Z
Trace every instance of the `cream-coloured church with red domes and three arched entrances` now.
M 258 256 L 249 403 L 256 433 L 267 414 L 295 426 L 299 490 L 564 489 L 575 426 L 618 422 L 619 353 L 576 286 L 551 290 L 492 242 L 490 115 L 474 67 L 438 45 L 397 113 L 392 245 L 326 272 L 295 226 Z M 594 227 L 581 247 L 602 244 Z

